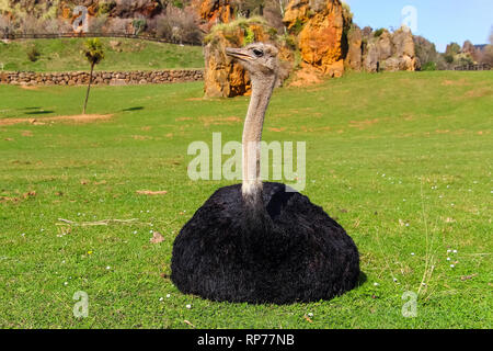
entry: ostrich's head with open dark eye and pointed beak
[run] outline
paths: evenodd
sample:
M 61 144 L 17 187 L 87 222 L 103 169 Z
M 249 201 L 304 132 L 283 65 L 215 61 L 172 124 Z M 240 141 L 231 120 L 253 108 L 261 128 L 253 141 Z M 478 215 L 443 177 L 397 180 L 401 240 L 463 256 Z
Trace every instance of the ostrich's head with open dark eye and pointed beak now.
M 243 48 L 227 48 L 226 54 L 236 58 L 249 71 L 252 80 L 277 76 L 278 50 L 274 45 L 253 43 Z

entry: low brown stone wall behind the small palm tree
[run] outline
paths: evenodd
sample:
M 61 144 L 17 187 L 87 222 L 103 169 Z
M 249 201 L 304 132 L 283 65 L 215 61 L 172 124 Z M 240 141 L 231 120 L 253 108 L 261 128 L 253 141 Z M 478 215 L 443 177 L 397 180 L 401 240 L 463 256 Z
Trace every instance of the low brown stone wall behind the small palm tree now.
M 203 70 L 95 71 L 94 84 L 162 84 L 204 80 Z M 0 72 L 0 83 L 25 86 L 85 86 L 89 72 Z

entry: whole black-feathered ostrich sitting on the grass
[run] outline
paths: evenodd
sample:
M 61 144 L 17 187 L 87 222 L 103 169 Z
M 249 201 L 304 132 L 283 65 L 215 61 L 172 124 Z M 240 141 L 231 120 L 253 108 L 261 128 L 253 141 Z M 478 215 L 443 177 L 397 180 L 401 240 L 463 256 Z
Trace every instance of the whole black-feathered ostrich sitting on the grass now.
M 217 190 L 173 244 L 171 280 L 218 302 L 289 304 L 330 299 L 355 287 L 359 254 L 323 210 L 285 184 L 262 182 L 260 141 L 277 75 L 277 48 L 228 48 L 252 80 L 244 122 L 242 184 Z

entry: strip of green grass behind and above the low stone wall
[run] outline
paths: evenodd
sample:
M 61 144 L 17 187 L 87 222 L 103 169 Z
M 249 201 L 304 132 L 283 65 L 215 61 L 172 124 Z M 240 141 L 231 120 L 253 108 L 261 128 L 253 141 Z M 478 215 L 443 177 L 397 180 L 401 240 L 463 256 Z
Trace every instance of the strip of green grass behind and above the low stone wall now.
M 0 64 L 10 71 L 89 70 L 83 55 L 84 38 L 30 39 L 0 42 Z M 119 42 L 114 48 L 110 42 Z M 101 38 L 105 59 L 96 70 L 152 70 L 204 67 L 202 47 L 154 42 Z M 41 56 L 32 63 L 27 52 L 35 46 Z

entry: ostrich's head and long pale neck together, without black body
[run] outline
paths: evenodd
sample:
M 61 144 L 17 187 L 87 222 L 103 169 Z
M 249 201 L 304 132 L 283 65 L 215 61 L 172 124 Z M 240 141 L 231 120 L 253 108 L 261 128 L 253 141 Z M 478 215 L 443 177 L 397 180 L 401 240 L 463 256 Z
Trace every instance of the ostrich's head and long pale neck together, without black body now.
M 243 184 L 241 190 L 245 203 L 263 208 L 260 206 L 262 202 L 260 144 L 265 111 L 277 80 L 278 50 L 271 44 L 253 43 L 243 48 L 227 48 L 226 54 L 237 59 L 249 71 L 252 79 L 252 97 L 242 138 Z

